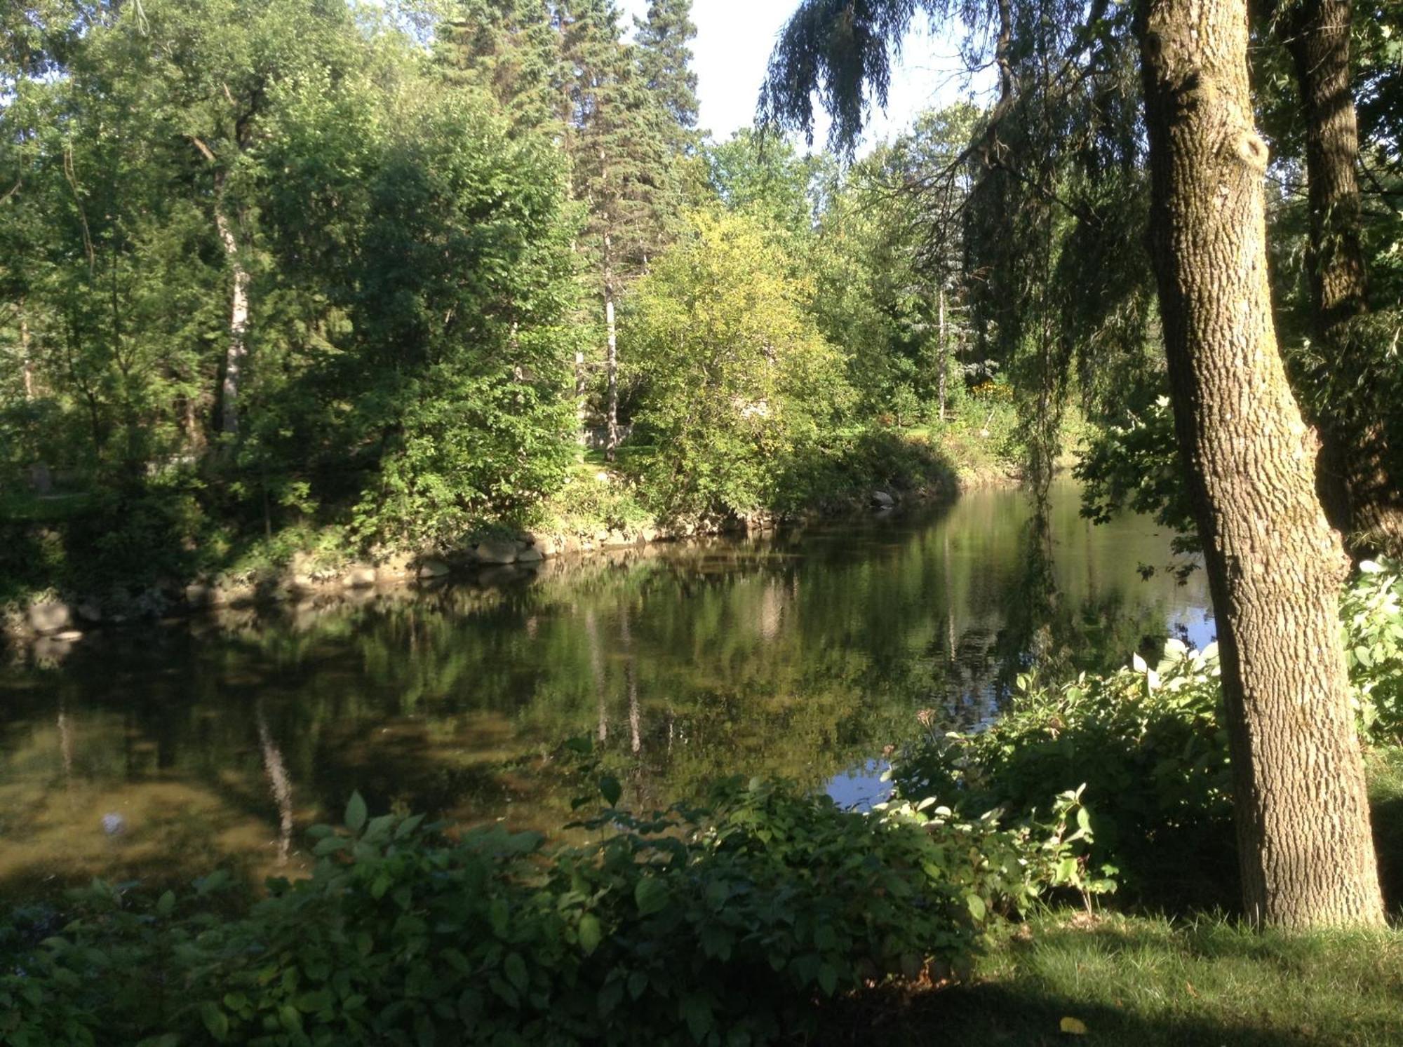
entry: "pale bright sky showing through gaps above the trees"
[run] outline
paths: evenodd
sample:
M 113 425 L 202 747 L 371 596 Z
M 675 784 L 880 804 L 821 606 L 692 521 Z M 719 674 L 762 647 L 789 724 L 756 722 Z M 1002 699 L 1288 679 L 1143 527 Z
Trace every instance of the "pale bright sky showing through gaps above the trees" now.
M 697 27 L 692 67 L 697 73 L 700 125 L 717 140 L 753 121 L 774 38 L 797 4 L 798 0 L 692 0 L 692 21 Z M 620 7 L 641 18 L 648 0 L 620 0 Z M 902 51 L 902 63 L 892 73 L 887 111 L 873 112 L 864 147 L 901 132 L 922 109 L 969 94 L 954 41 L 922 29 Z M 826 133 L 824 119 L 815 128 L 815 146 L 822 145 Z

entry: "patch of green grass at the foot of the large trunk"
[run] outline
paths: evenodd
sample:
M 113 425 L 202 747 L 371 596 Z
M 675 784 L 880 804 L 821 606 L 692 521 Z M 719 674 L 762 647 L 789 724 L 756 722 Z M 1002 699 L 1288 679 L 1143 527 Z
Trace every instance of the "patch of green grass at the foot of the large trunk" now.
M 1009 928 L 958 985 L 854 1006 L 845 1030 L 904 1044 L 1382 1047 L 1403 1044 L 1403 933 L 1051 912 Z

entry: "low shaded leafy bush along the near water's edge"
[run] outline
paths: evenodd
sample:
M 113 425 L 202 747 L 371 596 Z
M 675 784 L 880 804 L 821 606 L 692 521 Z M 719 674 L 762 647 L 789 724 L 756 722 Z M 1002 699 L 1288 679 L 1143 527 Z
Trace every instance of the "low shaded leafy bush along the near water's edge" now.
M 1086 818 L 1068 794 L 1042 839 L 728 782 L 710 813 L 582 828 L 602 836 L 455 839 L 356 796 L 311 877 L 243 915 L 212 912 L 217 874 L 154 901 L 95 886 L 42 945 L 0 933 L 0 1043 L 763 1043 L 870 980 L 962 966 L 998 909 L 1076 880 Z

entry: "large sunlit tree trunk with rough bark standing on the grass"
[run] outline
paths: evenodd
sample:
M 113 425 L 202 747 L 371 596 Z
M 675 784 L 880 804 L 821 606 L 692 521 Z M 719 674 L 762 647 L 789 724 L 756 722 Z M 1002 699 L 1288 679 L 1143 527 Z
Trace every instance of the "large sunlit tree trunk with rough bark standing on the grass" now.
M 1383 921 L 1338 639 L 1345 557 L 1277 351 L 1246 0 L 1141 0 L 1159 281 L 1180 452 L 1222 653 L 1247 916 Z

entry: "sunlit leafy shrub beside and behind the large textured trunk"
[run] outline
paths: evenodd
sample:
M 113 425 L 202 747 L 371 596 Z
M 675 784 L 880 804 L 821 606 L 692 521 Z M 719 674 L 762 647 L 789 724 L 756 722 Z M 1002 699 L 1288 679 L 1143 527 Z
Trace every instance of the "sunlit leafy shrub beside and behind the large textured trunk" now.
M 1403 587 L 1368 564 L 1341 601 L 1350 678 L 1364 738 L 1403 741 L 1399 667 Z M 898 796 L 936 794 L 961 811 L 1026 811 L 1062 783 L 1096 797 L 1094 863 L 1156 904 L 1230 905 L 1236 890 L 1232 783 L 1216 644 L 1169 640 L 1108 674 L 1019 678 L 1009 709 L 979 731 L 933 733 L 895 761 Z

